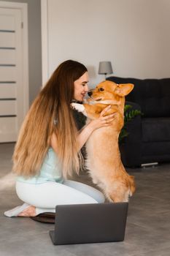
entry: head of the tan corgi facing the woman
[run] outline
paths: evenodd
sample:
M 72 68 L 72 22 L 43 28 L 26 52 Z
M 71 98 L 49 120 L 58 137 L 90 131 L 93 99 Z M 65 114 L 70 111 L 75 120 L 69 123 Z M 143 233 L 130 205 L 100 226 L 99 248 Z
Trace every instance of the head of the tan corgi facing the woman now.
M 117 84 L 112 81 L 106 80 L 98 83 L 95 89 L 88 91 L 88 96 L 93 101 L 100 102 L 118 102 L 120 98 L 125 97 L 134 89 L 132 83 Z

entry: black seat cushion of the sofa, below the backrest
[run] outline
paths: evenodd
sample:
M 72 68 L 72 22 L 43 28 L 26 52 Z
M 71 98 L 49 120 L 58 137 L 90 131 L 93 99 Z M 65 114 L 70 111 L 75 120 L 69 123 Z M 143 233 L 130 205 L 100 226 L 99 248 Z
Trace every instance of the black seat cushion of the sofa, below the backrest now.
M 170 118 L 142 118 L 142 142 L 170 142 Z

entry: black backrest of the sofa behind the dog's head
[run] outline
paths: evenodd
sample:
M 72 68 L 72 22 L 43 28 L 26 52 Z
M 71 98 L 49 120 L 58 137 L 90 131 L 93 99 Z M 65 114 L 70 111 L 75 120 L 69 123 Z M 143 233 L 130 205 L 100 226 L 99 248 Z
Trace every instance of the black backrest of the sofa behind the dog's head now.
M 170 117 L 170 78 L 136 79 L 109 77 L 115 83 L 134 83 L 126 100 L 141 106 L 144 117 Z

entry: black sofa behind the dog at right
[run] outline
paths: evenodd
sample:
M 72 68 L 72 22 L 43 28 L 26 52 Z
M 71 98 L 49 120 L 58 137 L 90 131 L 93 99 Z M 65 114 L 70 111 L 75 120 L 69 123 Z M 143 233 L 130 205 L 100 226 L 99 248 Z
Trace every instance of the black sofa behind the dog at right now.
M 170 162 L 170 78 L 141 80 L 112 76 L 107 80 L 134 83 L 134 90 L 126 100 L 143 113 L 128 123 L 129 135 L 120 146 L 123 164 L 136 167 Z

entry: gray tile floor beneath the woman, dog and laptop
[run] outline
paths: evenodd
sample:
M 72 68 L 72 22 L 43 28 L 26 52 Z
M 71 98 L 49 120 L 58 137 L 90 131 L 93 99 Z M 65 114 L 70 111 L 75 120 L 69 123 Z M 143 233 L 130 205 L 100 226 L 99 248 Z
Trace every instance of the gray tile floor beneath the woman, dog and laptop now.
M 12 150 L 12 144 L 0 144 L 0 182 L 11 170 Z M 48 235 L 53 225 L 4 217 L 4 211 L 21 203 L 15 189 L 9 186 L 0 191 L 0 255 L 169 256 L 170 165 L 128 172 L 135 176 L 137 189 L 129 203 L 125 241 L 53 246 Z M 90 182 L 86 174 L 77 180 Z

